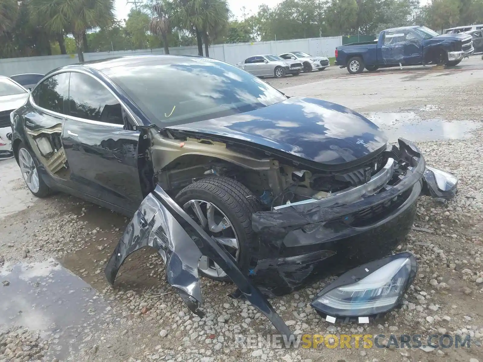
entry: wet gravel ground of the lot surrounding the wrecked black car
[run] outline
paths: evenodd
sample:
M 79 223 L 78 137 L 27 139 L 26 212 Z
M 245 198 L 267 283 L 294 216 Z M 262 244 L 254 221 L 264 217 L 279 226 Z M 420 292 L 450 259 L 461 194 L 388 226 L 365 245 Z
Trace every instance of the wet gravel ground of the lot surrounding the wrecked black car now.
M 414 74 L 385 71 L 378 77 L 312 82 L 331 71 L 342 70 L 301 75 L 296 86 L 286 84 L 283 90 L 352 104 L 368 115 L 411 112 L 416 126 L 463 119 L 476 130 L 464 139 L 417 142 L 428 164 L 455 172 L 460 183 L 447 205 L 420 197 L 415 229 L 398 246 L 414 253 L 419 264 L 401 309 L 369 324 L 327 323 L 308 303 L 334 277 L 276 298 L 272 305 L 296 334 L 469 334 L 471 348 L 246 348 L 235 343 L 237 334 L 276 332 L 249 303 L 227 296 L 233 285 L 202 279 L 206 317 L 200 319 L 166 284 L 160 258 L 144 250 L 129 258 L 110 287 L 103 267 L 128 220 L 59 194 L 28 201 L 20 211 L 2 209 L 0 307 L 7 312 L 0 315 L 0 361 L 483 361 L 483 118 L 480 103 L 474 102 L 483 94 L 483 70 L 462 70 L 457 78 L 432 71 L 408 81 Z M 393 93 L 383 97 L 388 83 Z M 14 160 L 0 163 L 6 193 L 0 204 L 28 197 L 15 167 Z M 84 294 L 76 294 L 80 290 Z

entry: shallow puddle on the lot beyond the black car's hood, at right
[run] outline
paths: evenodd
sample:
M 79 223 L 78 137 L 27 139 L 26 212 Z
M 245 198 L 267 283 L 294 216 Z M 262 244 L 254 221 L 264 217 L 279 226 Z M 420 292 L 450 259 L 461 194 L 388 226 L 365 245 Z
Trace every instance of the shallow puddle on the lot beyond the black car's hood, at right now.
M 399 137 L 412 141 L 465 139 L 471 131 L 483 126 L 472 121 L 423 120 L 413 112 L 371 112 L 365 116 L 384 130 L 390 142 Z

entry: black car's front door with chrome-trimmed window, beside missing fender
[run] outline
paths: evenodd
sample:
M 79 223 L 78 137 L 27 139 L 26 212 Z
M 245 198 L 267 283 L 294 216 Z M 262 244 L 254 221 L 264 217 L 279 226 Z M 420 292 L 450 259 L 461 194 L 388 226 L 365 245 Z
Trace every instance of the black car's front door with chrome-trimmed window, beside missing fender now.
M 121 102 L 96 78 L 71 72 L 62 141 L 79 191 L 134 212 L 142 201 L 140 132 L 126 124 Z M 108 205 L 109 206 L 109 205 Z

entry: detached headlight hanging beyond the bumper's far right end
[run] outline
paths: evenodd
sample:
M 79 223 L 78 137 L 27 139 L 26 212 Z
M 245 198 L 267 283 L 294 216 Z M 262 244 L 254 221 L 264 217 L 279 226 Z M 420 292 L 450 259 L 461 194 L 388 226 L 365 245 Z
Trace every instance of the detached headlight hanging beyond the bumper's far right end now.
M 456 195 L 458 178 L 448 171 L 426 166 L 423 181 L 423 192 L 426 195 L 446 200 Z

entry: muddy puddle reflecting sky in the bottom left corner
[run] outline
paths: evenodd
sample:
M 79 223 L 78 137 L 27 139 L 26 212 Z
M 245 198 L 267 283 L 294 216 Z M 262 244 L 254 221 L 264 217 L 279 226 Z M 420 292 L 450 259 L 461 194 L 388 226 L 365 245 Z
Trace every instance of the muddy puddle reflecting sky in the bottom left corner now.
M 20 326 L 40 331 L 43 339 L 52 339 L 49 361 L 65 360 L 118 320 L 96 290 L 54 259 L 4 265 L 0 281 L 8 281 L 0 284 L 0 331 Z

